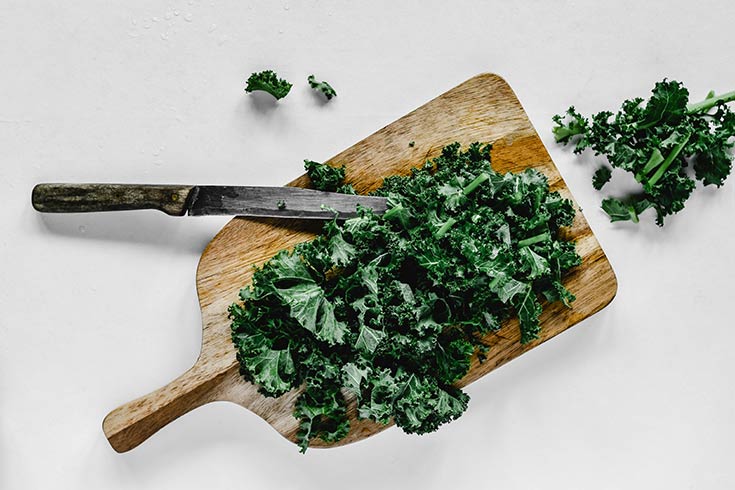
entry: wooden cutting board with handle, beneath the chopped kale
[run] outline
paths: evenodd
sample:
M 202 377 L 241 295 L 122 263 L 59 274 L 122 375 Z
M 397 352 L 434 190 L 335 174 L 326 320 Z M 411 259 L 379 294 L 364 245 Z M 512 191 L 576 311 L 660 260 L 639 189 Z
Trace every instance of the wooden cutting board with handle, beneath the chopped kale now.
M 409 142 L 414 141 L 414 146 Z M 492 142 L 492 164 L 501 172 L 536 167 L 544 172 L 552 190 L 572 198 L 543 143 L 508 84 L 493 74 L 478 75 L 419 107 L 329 160 L 347 166 L 348 182 L 359 193 L 380 186 L 383 177 L 407 174 L 411 167 L 437 156 L 444 145 L 459 141 Z M 305 187 L 302 176 L 289 185 Z M 577 206 L 578 208 L 578 206 Z M 279 398 L 260 395 L 238 374 L 230 340 L 227 307 L 240 288 L 250 282 L 253 265 L 260 265 L 278 250 L 308 240 L 318 232 L 314 223 L 291 220 L 234 218 L 207 245 L 199 261 L 196 284 L 202 309 L 202 350 L 193 367 L 146 396 L 112 411 L 103 423 L 105 435 L 119 452 L 128 451 L 188 411 L 213 401 L 231 401 L 255 412 L 276 431 L 295 440 L 298 421 L 293 405 L 298 390 Z M 520 345 L 517 320 L 506 322 L 485 341 L 492 347 L 483 364 L 473 361 L 460 382 L 465 386 L 558 335 L 606 306 L 615 296 L 617 281 L 599 243 L 582 213 L 577 213 L 568 235 L 577 241 L 582 265 L 573 269 L 565 284 L 576 296 L 568 309 L 544 304 L 541 338 Z M 349 404 L 351 430 L 334 446 L 364 439 L 386 426 L 357 420 Z M 472 410 L 472 403 L 468 410 Z M 311 447 L 325 446 L 320 440 Z

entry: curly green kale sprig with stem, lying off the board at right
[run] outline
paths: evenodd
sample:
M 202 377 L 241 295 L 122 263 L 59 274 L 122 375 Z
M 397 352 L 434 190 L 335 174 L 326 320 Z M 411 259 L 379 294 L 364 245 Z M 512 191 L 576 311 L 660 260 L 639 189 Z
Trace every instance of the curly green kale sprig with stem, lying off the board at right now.
M 616 114 L 603 111 L 588 120 L 570 107 L 554 116 L 553 133 L 559 143 L 574 143 L 575 153 L 591 148 L 640 182 L 640 193 L 603 201 L 611 221 L 638 222 L 638 215 L 653 208 L 656 223 L 663 226 L 664 217 L 681 211 L 694 190 L 690 163 L 704 185 L 720 187 L 730 174 L 735 113 L 725 104 L 733 100 L 735 92 L 710 92 L 690 104 L 681 82 L 664 79 L 645 104 L 642 98 L 626 100 Z M 594 187 L 601 189 L 609 177 L 607 167 L 598 169 Z

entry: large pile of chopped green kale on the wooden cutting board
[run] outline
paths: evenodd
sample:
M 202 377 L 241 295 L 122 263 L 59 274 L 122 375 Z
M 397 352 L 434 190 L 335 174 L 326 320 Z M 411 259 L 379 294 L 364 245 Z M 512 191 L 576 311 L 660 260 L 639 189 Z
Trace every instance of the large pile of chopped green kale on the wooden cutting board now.
M 342 186 L 344 169 L 307 169 L 319 186 Z M 580 257 L 559 234 L 572 202 L 536 170 L 495 172 L 490 145 L 449 145 L 375 194 L 388 198 L 383 216 L 327 222 L 256 269 L 229 310 L 245 379 L 272 397 L 303 388 L 302 451 L 347 435 L 345 393 L 359 418 L 407 433 L 456 419 L 469 397 L 454 383 L 473 355 L 484 359 L 483 337 L 517 316 L 530 342 L 541 299 L 574 300 L 562 280 Z

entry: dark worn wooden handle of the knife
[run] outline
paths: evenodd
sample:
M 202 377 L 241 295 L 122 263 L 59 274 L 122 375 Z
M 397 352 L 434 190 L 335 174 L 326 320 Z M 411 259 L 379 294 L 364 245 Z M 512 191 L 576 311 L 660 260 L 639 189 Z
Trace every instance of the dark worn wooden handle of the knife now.
M 151 184 L 38 184 L 31 203 L 42 213 L 90 213 L 158 209 L 186 214 L 193 186 Z

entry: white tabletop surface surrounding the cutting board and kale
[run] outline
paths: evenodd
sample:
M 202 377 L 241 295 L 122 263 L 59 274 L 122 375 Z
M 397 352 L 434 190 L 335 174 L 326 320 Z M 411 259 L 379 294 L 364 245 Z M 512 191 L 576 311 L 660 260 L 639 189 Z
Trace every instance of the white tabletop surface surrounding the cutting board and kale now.
M 720 2 L 0 3 L 0 488 L 728 488 L 735 182 L 611 225 L 550 118 L 735 88 Z M 275 106 L 256 70 L 294 82 Z M 280 185 L 481 72 L 511 84 L 617 273 L 614 302 L 469 387 L 438 432 L 300 455 L 213 404 L 116 454 L 104 416 L 199 351 L 199 255 L 226 218 L 41 216 L 41 181 Z M 322 104 L 314 73 L 339 96 Z M 262 101 L 261 101 L 262 102 Z

